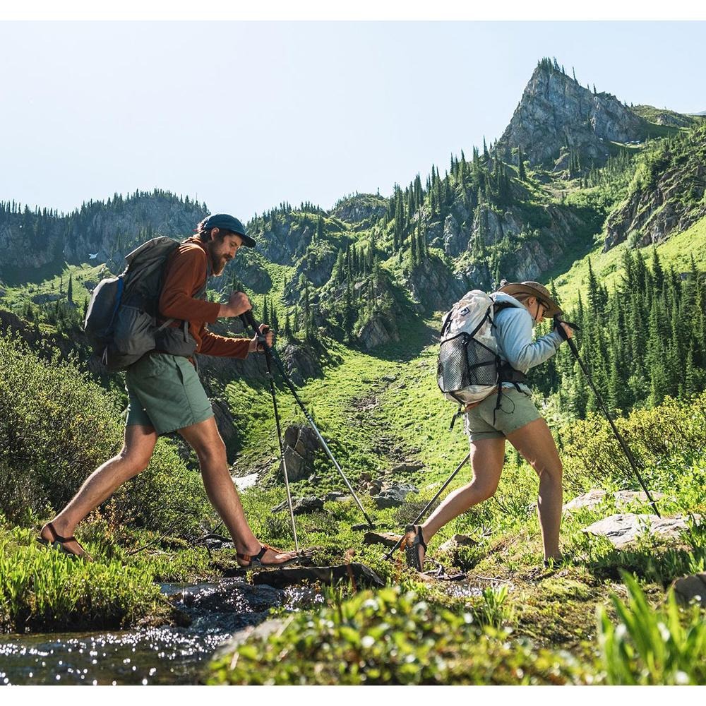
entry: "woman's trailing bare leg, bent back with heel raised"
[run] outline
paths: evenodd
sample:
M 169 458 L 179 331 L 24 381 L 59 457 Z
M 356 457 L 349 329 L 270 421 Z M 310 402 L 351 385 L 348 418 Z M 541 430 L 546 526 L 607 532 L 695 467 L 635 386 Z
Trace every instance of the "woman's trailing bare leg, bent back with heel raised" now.
M 424 541 L 438 532 L 448 522 L 458 517 L 473 505 L 487 500 L 498 489 L 500 475 L 503 472 L 505 462 L 505 439 L 490 438 L 474 441 L 471 444 L 471 466 L 473 468 L 473 480 L 459 488 L 453 493 L 449 493 L 443 503 L 431 513 L 429 519 L 421 525 L 421 533 L 424 534 Z M 424 548 L 420 546 L 419 554 L 424 561 Z

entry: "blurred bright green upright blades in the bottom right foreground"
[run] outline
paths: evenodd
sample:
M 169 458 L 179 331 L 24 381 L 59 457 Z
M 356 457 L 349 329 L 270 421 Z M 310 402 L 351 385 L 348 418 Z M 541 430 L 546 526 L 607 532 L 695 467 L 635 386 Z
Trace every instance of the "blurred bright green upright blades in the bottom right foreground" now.
M 706 681 L 706 623 L 698 608 L 681 609 L 669 591 L 666 606 L 654 610 L 627 573 L 628 602 L 612 597 L 614 626 L 599 609 L 599 645 L 611 684 L 703 684 Z

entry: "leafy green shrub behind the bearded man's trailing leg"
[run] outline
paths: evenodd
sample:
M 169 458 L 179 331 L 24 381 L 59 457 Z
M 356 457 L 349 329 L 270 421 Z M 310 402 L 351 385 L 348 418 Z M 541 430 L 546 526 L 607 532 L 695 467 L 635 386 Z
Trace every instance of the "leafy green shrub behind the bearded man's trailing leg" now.
M 0 511 L 10 520 L 63 507 L 83 481 L 121 448 L 116 397 L 90 381 L 75 359 L 40 358 L 0 335 Z M 169 442 L 150 467 L 114 495 L 116 523 L 196 531 L 208 507 L 201 481 Z

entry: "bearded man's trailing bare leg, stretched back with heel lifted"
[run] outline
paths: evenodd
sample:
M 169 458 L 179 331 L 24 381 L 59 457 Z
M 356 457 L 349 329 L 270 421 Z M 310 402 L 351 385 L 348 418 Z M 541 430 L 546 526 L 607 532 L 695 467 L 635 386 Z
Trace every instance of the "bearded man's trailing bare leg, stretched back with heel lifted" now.
M 107 500 L 125 481 L 148 467 L 155 443 L 157 432 L 151 426 L 126 426 L 121 452 L 95 469 L 64 510 L 54 517 L 52 524 L 56 532 L 62 537 L 73 536 L 76 525 L 88 513 Z M 52 541 L 52 531 L 47 525 L 42 527 L 40 536 Z M 64 547 L 73 554 L 85 554 L 76 542 L 66 542 Z

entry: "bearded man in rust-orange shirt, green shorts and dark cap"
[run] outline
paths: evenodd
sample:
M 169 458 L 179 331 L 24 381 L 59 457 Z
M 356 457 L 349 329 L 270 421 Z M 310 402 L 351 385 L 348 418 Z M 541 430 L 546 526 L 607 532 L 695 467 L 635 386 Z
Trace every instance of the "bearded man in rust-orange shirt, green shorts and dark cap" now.
M 217 213 L 201 221 L 196 236 L 181 243 L 167 258 L 159 313 L 163 321 L 174 319 L 170 325 L 175 328 L 189 322 L 196 352 L 246 358 L 262 349 L 257 336 L 251 340 L 229 338 L 205 328 L 205 323 L 217 318 L 240 316 L 251 309 L 246 294 L 232 292 L 227 304 L 195 298 L 203 291 L 208 275 L 220 275 L 243 245 L 253 247 L 255 241 L 241 222 Z M 272 345 L 273 333 L 265 325 L 261 333 Z M 273 549 L 251 531 L 229 474 L 225 444 L 191 359 L 152 351 L 128 367 L 126 390 L 129 403 L 121 452 L 96 469 L 68 505 L 42 527 L 40 542 L 90 561 L 73 537 L 78 522 L 148 466 L 158 436 L 178 431 L 196 451 L 206 494 L 233 538 L 240 566 L 281 566 L 296 561 L 294 552 Z

